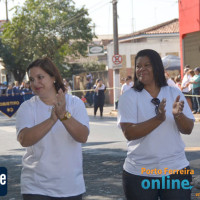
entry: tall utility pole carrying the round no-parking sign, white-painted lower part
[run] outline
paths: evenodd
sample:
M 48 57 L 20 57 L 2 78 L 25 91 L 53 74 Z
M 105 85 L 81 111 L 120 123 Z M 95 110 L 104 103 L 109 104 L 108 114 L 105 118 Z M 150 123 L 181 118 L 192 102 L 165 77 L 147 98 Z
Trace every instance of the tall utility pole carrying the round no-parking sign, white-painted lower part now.
M 118 45 L 118 24 L 117 24 L 117 0 L 112 1 L 113 4 L 113 41 L 114 41 L 114 55 L 119 55 Z M 116 109 L 116 102 L 120 96 L 120 81 L 119 68 L 113 67 L 113 88 L 114 88 L 114 109 Z

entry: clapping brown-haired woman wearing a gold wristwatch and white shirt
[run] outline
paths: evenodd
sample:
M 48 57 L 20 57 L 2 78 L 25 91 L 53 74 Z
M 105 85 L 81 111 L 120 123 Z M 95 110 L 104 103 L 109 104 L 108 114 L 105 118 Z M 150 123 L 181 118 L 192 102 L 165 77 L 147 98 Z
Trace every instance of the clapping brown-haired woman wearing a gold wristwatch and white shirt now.
M 83 102 L 66 93 L 58 69 L 48 58 L 28 66 L 35 96 L 16 118 L 17 139 L 26 153 L 21 173 L 24 200 L 81 200 L 85 192 L 81 143 L 89 134 Z

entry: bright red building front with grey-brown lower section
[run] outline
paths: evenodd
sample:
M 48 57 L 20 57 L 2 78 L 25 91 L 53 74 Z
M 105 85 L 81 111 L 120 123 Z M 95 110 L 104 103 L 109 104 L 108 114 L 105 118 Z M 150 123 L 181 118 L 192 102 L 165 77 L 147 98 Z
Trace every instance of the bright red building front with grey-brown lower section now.
M 200 0 L 179 0 L 181 75 L 200 65 Z

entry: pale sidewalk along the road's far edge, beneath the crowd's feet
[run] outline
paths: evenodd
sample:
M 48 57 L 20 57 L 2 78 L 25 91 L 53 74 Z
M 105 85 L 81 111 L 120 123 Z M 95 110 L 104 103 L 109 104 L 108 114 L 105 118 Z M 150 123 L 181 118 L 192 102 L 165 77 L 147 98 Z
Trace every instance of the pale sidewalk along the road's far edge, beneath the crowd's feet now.
M 88 115 L 94 115 L 94 108 L 87 108 Z M 97 111 L 97 116 L 99 114 L 99 110 Z M 113 105 L 105 105 L 103 108 L 103 116 L 105 117 L 117 117 L 117 110 L 114 109 Z M 194 114 L 195 122 L 200 122 L 200 114 Z

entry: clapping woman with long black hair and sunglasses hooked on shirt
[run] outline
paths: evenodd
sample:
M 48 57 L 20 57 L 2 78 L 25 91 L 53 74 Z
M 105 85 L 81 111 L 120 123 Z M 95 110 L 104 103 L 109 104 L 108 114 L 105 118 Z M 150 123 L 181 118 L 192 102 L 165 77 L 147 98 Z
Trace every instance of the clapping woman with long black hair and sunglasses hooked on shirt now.
M 167 85 L 156 51 L 136 55 L 134 87 L 119 99 L 118 124 L 128 146 L 123 166 L 126 198 L 189 200 L 192 172 L 181 133 L 192 132 L 194 117 L 182 92 Z M 174 187 L 172 180 L 188 185 Z

